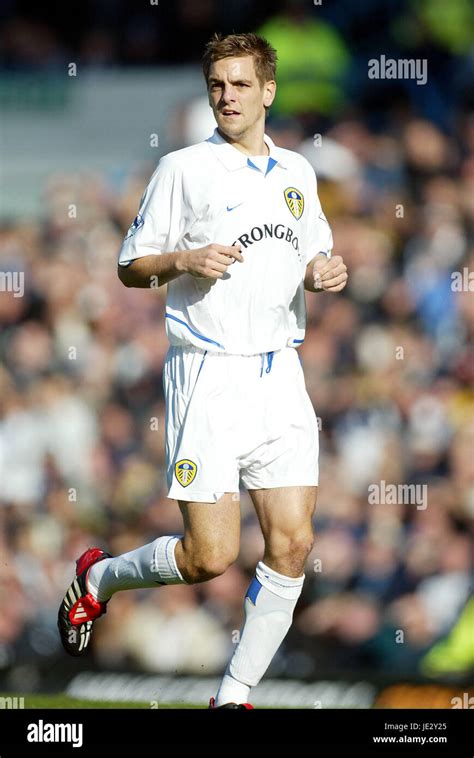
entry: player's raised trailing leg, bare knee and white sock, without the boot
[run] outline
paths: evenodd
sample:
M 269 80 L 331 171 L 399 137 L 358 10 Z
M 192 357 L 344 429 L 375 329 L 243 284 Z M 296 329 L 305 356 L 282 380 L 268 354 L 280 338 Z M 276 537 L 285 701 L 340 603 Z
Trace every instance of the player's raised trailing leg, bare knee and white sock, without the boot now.
M 216 503 L 180 501 L 184 536 L 154 542 L 92 566 L 89 591 L 99 601 L 119 590 L 203 582 L 222 574 L 239 552 L 240 502 L 225 493 Z

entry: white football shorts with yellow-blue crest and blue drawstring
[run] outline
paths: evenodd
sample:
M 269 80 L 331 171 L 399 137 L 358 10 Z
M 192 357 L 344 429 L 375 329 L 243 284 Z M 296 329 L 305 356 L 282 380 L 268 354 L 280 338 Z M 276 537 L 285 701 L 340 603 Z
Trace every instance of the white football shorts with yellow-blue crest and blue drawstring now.
M 318 424 L 297 350 L 171 346 L 163 369 L 168 497 L 318 484 Z

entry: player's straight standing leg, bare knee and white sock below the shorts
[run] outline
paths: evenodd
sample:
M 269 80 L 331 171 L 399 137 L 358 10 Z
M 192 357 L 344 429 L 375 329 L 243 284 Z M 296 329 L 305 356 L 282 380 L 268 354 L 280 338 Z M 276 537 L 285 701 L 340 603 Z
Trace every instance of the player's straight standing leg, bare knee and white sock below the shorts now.
M 317 487 L 250 490 L 265 539 L 264 560 L 247 591 L 240 641 L 217 694 L 217 706 L 246 702 L 291 626 L 313 546 L 316 494 Z

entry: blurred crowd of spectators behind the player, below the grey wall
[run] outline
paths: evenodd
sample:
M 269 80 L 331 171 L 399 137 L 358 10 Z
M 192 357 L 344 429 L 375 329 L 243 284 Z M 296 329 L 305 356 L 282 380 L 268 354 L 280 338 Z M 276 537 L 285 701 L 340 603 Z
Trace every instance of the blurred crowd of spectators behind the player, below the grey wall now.
M 266 22 L 253 3 L 225 5 Z M 361 23 L 371 3 L 357 6 Z M 175 3 L 186 28 L 206 18 L 193 8 Z M 92 49 L 86 41 L 74 44 Z M 4 65 L 25 63 L 18 49 Z M 276 144 L 314 165 L 350 275 L 340 295 L 306 295 L 299 353 L 321 428 L 316 542 L 274 675 L 420 672 L 472 594 L 474 118 L 443 110 L 445 130 L 405 103 L 380 128 L 374 113 L 362 104 L 326 115 L 322 134 L 304 109 L 268 122 Z M 83 550 L 119 554 L 181 533 L 164 469 L 165 288 L 127 289 L 116 276 L 153 169 L 54 175 L 40 219 L 0 227 L 1 281 L 8 272 L 24 289 L 0 291 L 0 670 L 62 659 L 56 612 Z M 426 502 L 371 501 L 382 482 L 426 486 Z M 224 669 L 263 551 L 244 491 L 241 507 L 236 564 L 197 586 L 118 593 L 95 628 L 97 664 Z M 463 661 L 474 666 L 472 647 Z

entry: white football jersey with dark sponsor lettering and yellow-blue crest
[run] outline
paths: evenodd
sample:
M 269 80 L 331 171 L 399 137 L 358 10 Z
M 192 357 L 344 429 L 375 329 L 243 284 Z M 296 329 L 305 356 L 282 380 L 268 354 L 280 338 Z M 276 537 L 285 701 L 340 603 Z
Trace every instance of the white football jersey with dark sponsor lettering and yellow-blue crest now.
M 217 129 L 197 145 L 165 155 L 143 195 L 119 255 L 145 255 L 240 243 L 244 262 L 223 279 L 182 274 L 168 283 L 166 331 L 172 345 L 253 355 L 304 340 L 306 266 L 332 234 L 311 164 L 276 147 L 248 157 Z

